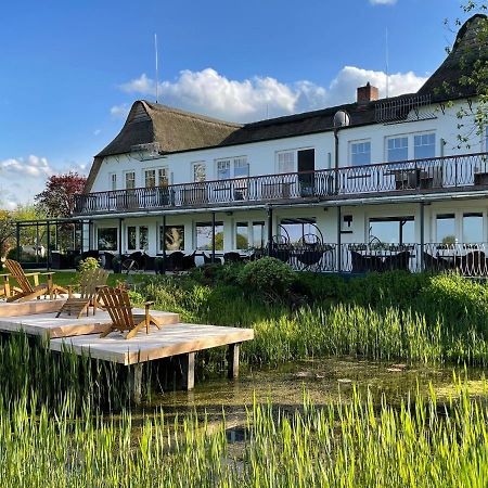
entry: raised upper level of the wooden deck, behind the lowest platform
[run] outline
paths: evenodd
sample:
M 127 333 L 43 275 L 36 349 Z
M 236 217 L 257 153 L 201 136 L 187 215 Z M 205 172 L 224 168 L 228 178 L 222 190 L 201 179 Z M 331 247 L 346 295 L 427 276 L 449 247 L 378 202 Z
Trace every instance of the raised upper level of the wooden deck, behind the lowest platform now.
M 44 301 L 49 303 L 51 300 L 39 300 L 41 304 Z M 62 305 L 62 300 L 52 301 L 60 301 Z M 4 307 L 5 305 L 10 304 L 3 304 L 0 307 Z M 142 309 L 134 309 L 134 311 L 138 313 L 144 312 Z M 180 320 L 178 313 L 157 310 L 152 313 L 164 325 L 175 324 Z M 79 319 L 66 314 L 56 318 L 55 313 L 0 317 L 0 332 L 24 332 L 28 335 L 39 335 L 48 338 L 68 337 L 100 334 L 111 322 L 108 313 L 102 310 L 99 310 L 95 316 L 90 314 L 89 317 L 85 316 Z

